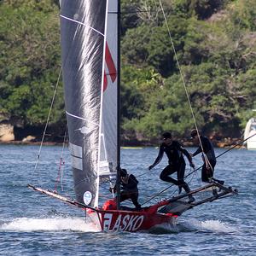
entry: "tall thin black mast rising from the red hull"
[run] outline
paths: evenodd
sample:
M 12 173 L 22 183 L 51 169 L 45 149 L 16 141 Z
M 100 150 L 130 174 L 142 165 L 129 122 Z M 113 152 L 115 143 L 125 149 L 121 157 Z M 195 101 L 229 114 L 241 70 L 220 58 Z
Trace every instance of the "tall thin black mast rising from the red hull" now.
M 118 53 L 118 57 L 117 57 L 117 61 L 118 61 L 118 67 L 117 67 L 117 71 L 118 71 L 118 82 L 117 82 L 117 208 L 119 209 L 120 207 L 120 24 L 121 24 L 121 3 L 120 0 L 117 0 L 118 3 L 118 15 L 117 15 L 117 22 L 118 22 L 118 31 L 117 31 L 117 45 L 118 45 L 118 49 L 117 49 L 117 53 Z

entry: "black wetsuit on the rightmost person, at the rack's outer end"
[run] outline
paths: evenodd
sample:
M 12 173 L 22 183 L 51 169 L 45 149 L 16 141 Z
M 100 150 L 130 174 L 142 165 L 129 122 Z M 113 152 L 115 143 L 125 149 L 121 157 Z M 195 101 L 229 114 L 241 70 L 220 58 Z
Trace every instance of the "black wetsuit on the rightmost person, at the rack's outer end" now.
M 212 143 L 207 137 L 201 136 L 201 146 L 203 148 L 203 153 L 206 154 L 208 162 L 206 162 L 205 157 L 202 155 L 204 164 L 201 168 L 201 180 L 205 183 L 211 182 L 211 179 L 217 181 L 218 183 L 223 183 L 218 179 L 213 178 L 214 167 L 216 166 L 216 157 Z M 201 147 L 197 148 L 193 156 L 200 154 L 202 152 Z

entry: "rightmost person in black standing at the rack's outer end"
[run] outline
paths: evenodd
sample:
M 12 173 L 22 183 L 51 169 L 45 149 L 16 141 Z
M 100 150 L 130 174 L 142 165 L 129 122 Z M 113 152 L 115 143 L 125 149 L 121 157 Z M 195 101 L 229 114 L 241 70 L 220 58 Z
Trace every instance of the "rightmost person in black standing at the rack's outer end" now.
M 200 136 L 200 140 L 198 136 Z M 201 168 L 201 180 L 205 183 L 210 183 L 213 180 L 223 185 L 223 180 L 213 178 L 214 167 L 216 166 L 216 157 L 211 141 L 207 137 L 201 136 L 195 129 L 191 131 L 191 137 L 194 143 L 199 144 L 199 147 L 196 149 L 195 153 L 190 154 L 191 157 L 203 152 L 202 160 L 204 164 Z

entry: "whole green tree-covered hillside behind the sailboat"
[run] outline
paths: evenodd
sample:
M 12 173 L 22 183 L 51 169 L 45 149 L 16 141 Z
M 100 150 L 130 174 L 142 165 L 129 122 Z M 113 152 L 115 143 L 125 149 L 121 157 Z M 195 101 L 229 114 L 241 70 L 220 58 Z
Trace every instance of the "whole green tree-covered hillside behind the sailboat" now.
M 0 113 L 29 131 L 44 127 L 61 70 L 58 4 L 0 3 Z M 166 20 L 158 1 L 121 1 L 123 138 L 149 142 L 162 131 L 188 136 L 194 121 L 185 88 L 201 131 L 240 137 L 256 103 L 256 2 L 161 4 Z M 65 131 L 64 108 L 60 82 L 49 119 L 55 135 Z

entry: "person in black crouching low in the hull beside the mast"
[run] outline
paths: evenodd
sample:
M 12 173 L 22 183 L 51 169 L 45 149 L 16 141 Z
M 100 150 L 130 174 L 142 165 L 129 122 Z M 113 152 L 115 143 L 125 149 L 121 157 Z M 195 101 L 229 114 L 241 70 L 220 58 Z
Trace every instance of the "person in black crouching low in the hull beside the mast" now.
M 131 199 L 137 210 L 141 209 L 141 205 L 138 203 L 138 189 L 137 189 L 137 178 L 133 174 L 128 174 L 125 169 L 120 171 L 120 201 Z M 111 188 L 110 188 L 111 190 Z M 116 192 L 116 185 L 113 187 L 113 192 Z

